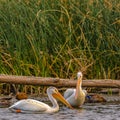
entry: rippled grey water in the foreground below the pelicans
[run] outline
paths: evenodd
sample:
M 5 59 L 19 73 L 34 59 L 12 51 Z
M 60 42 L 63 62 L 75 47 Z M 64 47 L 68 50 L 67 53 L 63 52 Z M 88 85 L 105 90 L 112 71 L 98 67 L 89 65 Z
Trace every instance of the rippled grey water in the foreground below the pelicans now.
M 60 105 L 52 114 L 12 113 L 0 108 L 0 120 L 120 120 L 120 103 L 85 103 L 82 108 L 71 110 Z

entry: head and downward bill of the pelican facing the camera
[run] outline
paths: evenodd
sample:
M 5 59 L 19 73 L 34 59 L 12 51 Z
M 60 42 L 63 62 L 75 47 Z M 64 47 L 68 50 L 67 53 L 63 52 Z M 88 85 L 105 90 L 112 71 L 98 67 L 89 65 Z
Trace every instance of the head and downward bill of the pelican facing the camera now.
M 75 99 L 78 98 L 78 94 L 79 92 L 82 90 L 81 88 L 81 85 L 82 85 L 82 77 L 83 77 L 83 74 L 82 72 L 78 72 L 77 73 L 77 85 L 76 85 L 76 94 L 75 94 Z

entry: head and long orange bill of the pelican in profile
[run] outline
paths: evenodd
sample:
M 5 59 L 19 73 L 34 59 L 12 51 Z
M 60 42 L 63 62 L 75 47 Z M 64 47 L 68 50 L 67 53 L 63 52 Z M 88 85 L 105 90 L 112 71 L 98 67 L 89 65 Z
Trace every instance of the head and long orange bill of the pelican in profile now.
M 60 94 L 60 92 L 55 87 L 49 87 L 47 89 L 47 93 L 48 93 L 48 95 L 51 94 L 54 98 L 60 100 L 66 106 L 73 109 L 72 106 L 65 100 L 65 98 Z

